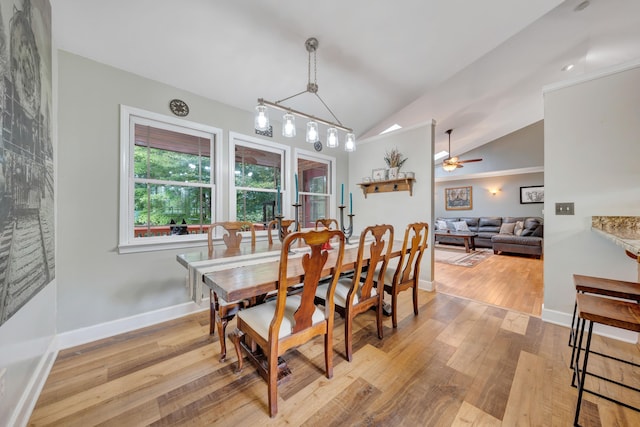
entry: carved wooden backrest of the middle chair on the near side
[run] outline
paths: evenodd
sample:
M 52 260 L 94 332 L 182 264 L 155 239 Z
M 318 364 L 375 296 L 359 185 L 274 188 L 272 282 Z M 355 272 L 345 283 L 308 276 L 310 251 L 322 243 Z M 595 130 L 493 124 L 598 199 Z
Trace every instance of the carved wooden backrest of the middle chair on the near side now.
M 373 238 L 373 240 L 372 240 Z M 356 261 L 356 270 L 353 275 L 351 290 L 347 295 L 347 305 L 353 305 L 356 293 L 359 291 L 360 301 L 371 298 L 371 290 L 377 283 L 384 283 L 384 273 L 387 269 L 387 263 L 391 256 L 393 248 L 393 226 L 388 224 L 374 225 L 365 228 L 360 233 L 360 244 L 358 245 L 358 259 Z M 368 259 L 364 259 L 365 251 L 368 251 Z M 362 269 L 367 263 L 367 274 L 364 281 L 361 281 Z M 373 274 L 379 271 L 378 277 Z M 380 289 L 379 292 L 382 292 Z

